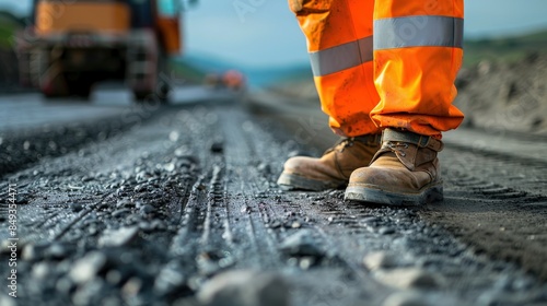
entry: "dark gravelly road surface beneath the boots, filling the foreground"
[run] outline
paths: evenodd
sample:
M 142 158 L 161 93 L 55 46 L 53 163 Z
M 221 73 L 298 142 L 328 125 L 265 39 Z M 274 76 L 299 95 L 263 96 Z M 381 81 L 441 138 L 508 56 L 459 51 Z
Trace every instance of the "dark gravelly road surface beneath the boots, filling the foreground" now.
M 0 304 L 547 304 L 542 158 L 447 138 L 443 203 L 346 202 L 344 190 L 275 184 L 288 156 L 321 154 L 333 140 L 315 113 L 247 106 L 166 106 L 124 129 L 109 128 L 115 118 L 78 125 L 102 137 L 3 163 Z M 63 137 L 54 138 L 32 141 Z

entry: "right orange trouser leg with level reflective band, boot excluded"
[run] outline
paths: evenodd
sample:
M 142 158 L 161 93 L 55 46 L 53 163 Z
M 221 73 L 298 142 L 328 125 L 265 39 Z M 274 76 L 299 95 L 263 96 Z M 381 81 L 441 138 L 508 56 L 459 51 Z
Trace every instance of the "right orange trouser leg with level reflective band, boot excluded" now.
M 462 63 L 463 0 L 381 0 L 374 11 L 380 127 L 440 136 L 463 114 L 452 105 Z

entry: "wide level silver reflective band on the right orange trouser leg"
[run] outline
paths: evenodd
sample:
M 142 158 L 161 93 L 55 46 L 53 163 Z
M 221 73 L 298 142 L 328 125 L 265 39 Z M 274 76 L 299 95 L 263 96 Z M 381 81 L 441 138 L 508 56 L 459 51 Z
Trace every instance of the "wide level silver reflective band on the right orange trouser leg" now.
M 405 47 L 462 48 L 464 20 L 408 16 L 374 21 L 374 50 Z

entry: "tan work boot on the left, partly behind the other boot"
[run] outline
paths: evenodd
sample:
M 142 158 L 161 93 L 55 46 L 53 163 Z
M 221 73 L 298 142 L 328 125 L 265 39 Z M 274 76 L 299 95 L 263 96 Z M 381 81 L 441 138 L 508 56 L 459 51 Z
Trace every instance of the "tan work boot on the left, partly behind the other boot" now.
M 314 191 L 344 187 L 354 169 L 370 164 L 380 149 L 380 140 L 381 134 L 346 138 L 321 158 L 291 157 L 277 184 L 287 189 Z

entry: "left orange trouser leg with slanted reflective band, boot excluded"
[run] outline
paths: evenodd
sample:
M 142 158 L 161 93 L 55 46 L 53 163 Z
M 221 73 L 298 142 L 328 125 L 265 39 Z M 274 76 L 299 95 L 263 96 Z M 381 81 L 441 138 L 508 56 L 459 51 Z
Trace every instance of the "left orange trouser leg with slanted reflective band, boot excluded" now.
M 333 130 L 346 137 L 377 133 L 370 111 L 374 0 L 289 0 L 307 39 L 315 85 Z

